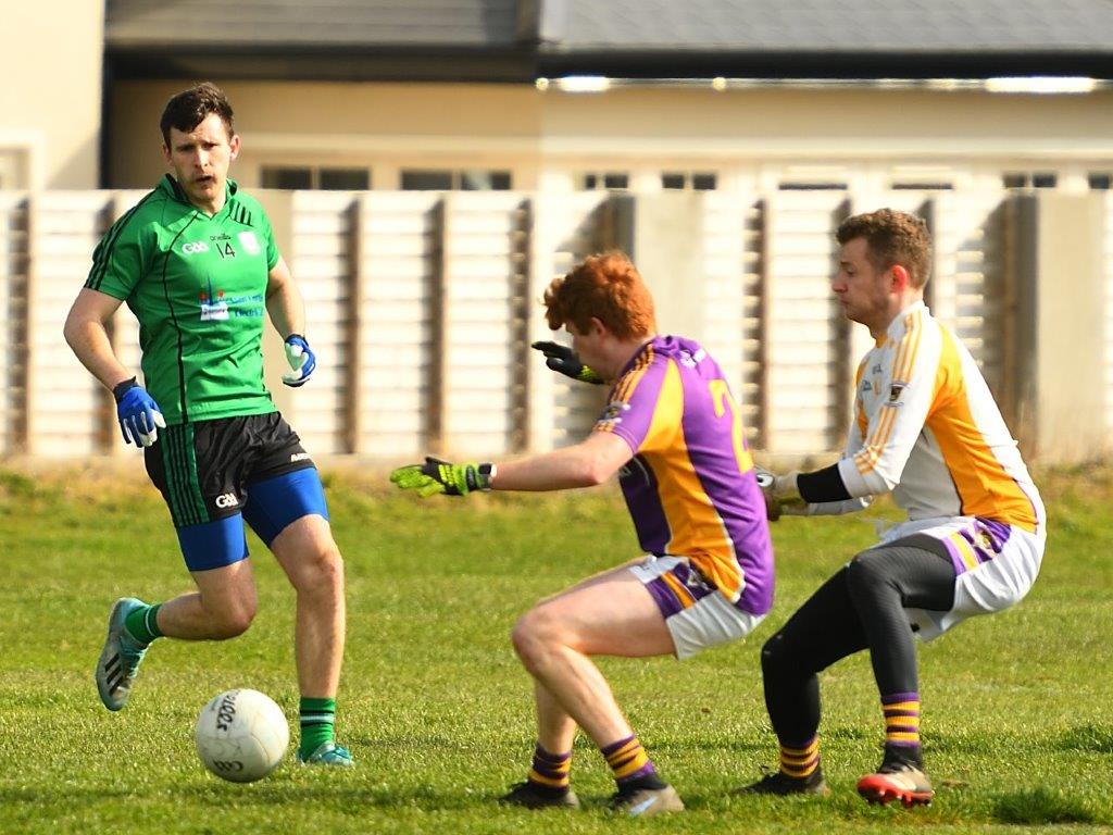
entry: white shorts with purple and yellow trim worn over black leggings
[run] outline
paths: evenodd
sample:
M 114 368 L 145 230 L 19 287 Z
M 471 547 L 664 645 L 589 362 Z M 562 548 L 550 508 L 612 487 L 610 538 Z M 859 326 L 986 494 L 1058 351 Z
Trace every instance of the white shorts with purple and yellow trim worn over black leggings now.
M 939 540 L 955 567 L 955 603 L 949 611 L 907 609 L 920 640 L 938 638 L 956 623 L 1020 602 L 1040 573 L 1046 533 L 981 517 L 918 519 L 890 528 L 887 544 L 912 534 Z

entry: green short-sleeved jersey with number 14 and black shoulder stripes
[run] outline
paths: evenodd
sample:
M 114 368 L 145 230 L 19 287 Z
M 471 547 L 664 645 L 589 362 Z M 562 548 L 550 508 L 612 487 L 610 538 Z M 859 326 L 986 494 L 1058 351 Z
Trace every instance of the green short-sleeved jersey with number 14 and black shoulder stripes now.
M 167 175 L 97 246 L 85 286 L 139 320 L 145 383 L 167 423 L 275 411 L 263 320 L 277 263 L 263 207 L 232 180 L 209 217 Z

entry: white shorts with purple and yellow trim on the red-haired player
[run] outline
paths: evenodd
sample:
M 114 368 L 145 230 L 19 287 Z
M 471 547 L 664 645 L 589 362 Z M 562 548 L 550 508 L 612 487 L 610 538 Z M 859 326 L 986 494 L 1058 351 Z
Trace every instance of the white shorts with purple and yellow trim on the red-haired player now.
M 684 557 L 650 554 L 630 571 L 646 583 L 661 610 L 681 661 L 745 638 L 765 620 L 765 615 L 751 615 L 727 600 Z

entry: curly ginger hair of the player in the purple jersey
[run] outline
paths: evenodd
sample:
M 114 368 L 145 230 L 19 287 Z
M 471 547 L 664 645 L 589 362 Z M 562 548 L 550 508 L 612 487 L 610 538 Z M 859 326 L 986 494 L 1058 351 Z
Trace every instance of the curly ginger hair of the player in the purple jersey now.
M 620 340 L 657 331 L 653 297 L 638 268 L 622 253 L 591 255 L 545 291 L 545 320 L 553 331 L 571 323 L 587 333 L 598 318 Z

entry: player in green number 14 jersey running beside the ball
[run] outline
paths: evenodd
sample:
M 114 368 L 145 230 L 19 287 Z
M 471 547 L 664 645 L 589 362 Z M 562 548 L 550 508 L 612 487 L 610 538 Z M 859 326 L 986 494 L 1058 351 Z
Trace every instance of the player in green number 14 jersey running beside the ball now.
M 178 94 L 160 127 L 170 174 L 100 242 L 66 340 L 115 395 L 125 441 L 144 449 L 197 590 L 155 606 L 116 601 L 97 687 L 119 710 L 156 638 L 223 640 L 248 628 L 246 521 L 297 592 L 298 758 L 351 765 L 333 734 L 343 561 L 316 468 L 263 384 L 264 314 L 286 343 L 283 382 L 299 386 L 316 366 L 302 297 L 263 207 L 228 179 L 239 137 L 224 94 L 210 84 Z M 142 385 L 106 330 L 125 302 L 139 321 Z

